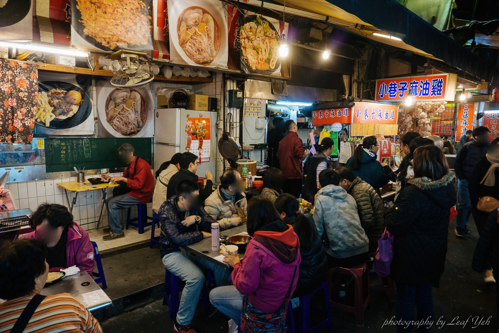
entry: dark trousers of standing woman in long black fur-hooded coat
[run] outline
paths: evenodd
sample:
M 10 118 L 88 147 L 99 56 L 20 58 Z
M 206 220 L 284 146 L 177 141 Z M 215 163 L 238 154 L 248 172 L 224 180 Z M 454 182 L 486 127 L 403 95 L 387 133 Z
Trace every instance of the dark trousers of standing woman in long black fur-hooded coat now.
M 406 285 L 397 284 L 397 320 L 402 321 L 397 325 L 397 333 L 400 332 L 430 332 L 429 325 L 424 323 L 413 328 L 414 306 L 417 305 L 418 321 L 430 322 L 433 317 L 433 284 L 428 285 Z M 404 323 L 405 322 L 405 323 Z

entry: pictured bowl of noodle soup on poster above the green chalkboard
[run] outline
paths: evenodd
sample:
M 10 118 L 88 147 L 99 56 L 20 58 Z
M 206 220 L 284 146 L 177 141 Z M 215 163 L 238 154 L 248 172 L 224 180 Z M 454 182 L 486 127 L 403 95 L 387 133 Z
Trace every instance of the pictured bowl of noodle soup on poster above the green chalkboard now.
M 149 123 L 154 121 L 148 116 L 152 103 L 151 95 L 144 89 L 103 89 L 99 93 L 98 116 L 112 136 L 140 137 L 145 134 L 143 130 L 150 127 Z

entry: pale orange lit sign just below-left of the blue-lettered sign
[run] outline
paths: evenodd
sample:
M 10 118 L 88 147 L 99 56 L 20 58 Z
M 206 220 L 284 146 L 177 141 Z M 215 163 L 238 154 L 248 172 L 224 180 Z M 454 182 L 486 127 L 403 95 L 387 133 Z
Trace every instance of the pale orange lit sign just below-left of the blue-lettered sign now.
M 352 123 L 395 125 L 398 115 L 397 105 L 355 102 Z

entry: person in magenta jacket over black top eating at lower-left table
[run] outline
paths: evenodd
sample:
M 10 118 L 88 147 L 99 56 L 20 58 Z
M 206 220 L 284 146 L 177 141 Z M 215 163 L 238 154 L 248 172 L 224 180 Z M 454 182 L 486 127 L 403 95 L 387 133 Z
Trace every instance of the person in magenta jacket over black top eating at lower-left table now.
M 34 238 L 47 246 L 46 260 L 50 272 L 76 265 L 92 277 L 95 266 L 93 246 L 88 233 L 73 222 L 73 215 L 67 207 L 41 204 L 29 217 L 29 226 L 35 231 L 21 238 Z

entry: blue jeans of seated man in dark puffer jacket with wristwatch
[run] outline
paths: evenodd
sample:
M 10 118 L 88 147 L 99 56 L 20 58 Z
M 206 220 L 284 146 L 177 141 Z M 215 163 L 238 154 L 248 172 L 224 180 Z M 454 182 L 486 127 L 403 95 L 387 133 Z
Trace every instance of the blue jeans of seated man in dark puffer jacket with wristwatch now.
M 223 272 L 228 276 L 227 270 L 217 264 L 205 259 L 198 258 L 196 263 L 201 267 L 211 269 L 215 274 L 218 283 L 223 283 Z M 191 259 L 185 257 L 181 252 L 173 252 L 163 257 L 163 265 L 172 274 L 179 277 L 186 283 L 180 298 L 179 312 L 177 313 L 177 323 L 189 325 L 198 307 L 199 295 L 205 283 L 205 275 L 201 268 Z M 225 278 L 227 280 L 227 277 Z

